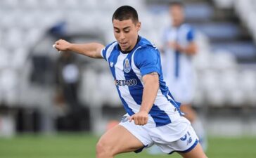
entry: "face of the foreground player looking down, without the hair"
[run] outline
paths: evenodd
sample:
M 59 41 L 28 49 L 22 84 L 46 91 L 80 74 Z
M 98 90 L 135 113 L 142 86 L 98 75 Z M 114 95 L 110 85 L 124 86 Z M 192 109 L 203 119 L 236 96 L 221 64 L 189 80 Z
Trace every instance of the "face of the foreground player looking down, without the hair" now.
M 136 45 L 141 22 L 129 20 L 113 20 L 114 35 L 122 51 L 131 51 Z

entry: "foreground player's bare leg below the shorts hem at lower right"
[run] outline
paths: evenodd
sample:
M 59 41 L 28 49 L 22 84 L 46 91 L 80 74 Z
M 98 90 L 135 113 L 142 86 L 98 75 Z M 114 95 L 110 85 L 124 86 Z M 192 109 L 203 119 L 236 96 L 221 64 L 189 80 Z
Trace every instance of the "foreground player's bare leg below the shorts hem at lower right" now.
M 193 150 L 189 152 L 186 152 L 186 153 L 178 152 L 178 153 L 181 154 L 181 156 L 184 158 L 207 158 L 207 156 L 205 155 L 205 152 L 203 152 L 203 148 L 199 143 L 196 145 L 196 147 L 193 148 Z

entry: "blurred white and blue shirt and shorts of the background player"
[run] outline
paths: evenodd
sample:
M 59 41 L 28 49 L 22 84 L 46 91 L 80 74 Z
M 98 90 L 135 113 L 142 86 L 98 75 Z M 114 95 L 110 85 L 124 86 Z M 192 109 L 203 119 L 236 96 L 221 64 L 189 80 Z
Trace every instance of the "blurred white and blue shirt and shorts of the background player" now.
M 181 47 L 186 47 L 195 40 L 194 29 L 187 24 L 179 27 L 167 27 L 163 34 L 163 44 L 176 42 Z M 181 104 L 191 103 L 194 91 L 194 73 L 192 56 L 165 47 L 162 55 L 162 71 L 169 90 L 175 100 Z

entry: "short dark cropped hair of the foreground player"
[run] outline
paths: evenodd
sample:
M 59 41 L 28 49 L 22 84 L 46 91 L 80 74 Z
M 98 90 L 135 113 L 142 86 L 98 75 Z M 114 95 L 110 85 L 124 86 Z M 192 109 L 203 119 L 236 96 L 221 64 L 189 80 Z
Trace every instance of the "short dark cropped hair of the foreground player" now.
M 132 6 L 120 6 L 117 8 L 115 13 L 113 13 L 112 22 L 114 19 L 120 21 L 131 19 L 134 24 L 139 22 L 138 13 Z

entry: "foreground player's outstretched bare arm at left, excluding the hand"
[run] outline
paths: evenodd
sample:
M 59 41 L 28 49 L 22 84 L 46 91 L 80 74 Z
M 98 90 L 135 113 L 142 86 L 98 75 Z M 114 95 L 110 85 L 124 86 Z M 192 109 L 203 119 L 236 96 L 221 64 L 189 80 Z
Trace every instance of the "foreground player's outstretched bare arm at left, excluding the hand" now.
M 89 56 L 91 58 L 102 58 L 101 49 L 104 48 L 102 44 L 89 43 L 89 44 L 70 44 L 70 51 Z

